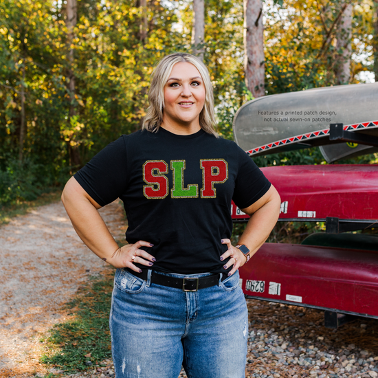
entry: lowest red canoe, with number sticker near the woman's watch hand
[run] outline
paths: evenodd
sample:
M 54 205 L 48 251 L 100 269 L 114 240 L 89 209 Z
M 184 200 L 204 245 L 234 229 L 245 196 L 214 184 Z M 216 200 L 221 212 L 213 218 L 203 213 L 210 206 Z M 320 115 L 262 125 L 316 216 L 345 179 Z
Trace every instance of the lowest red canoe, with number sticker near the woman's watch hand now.
M 378 318 L 378 251 L 265 243 L 239 272 L 249 298 Z

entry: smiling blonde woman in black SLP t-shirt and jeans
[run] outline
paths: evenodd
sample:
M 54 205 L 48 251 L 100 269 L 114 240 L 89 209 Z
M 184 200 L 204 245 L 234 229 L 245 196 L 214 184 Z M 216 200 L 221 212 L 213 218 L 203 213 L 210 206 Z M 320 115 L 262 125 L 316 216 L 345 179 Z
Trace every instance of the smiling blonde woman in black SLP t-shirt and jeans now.
M 208 70 L 190 54 L 157 65 L 142 131 L 72 177 L 63 203 L 82 241 L 115 273 L 117 378 L 244 377 L 248 320 L 237 269 L 264 243 L 280 198 L 252 159 L 216 136 Z M 124 201 L 123 247 L 97 209 Z M 236 247 L 230 203 L 251 215 Z M 252 260 L 253 263 L 253 260 Z

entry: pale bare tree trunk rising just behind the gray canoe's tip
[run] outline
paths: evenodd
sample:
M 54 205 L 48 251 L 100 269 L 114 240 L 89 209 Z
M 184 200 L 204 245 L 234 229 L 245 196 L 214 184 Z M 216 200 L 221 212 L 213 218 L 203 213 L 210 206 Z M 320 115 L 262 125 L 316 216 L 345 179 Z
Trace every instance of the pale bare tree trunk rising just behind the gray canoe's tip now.
M 244 0 L 245 84 L 252 95 L 265 95 L 263 1 Z

